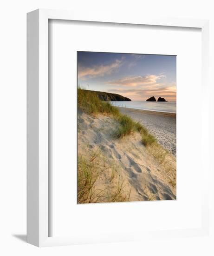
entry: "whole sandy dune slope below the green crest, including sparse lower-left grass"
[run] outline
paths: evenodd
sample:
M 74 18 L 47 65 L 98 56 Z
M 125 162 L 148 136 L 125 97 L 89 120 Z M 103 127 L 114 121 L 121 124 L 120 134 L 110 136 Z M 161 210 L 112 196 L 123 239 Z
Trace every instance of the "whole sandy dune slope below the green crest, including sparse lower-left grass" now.
M 78 110 L 78 177 L 88 174 L 89 167 L 95 171 L 87 196 L 78 190 L 78 202 L 176 199 L 175 157 L 166 155 L 169 171 L 143 146 L 138 133 L 116 139 L 116 128 L 110 116 Z

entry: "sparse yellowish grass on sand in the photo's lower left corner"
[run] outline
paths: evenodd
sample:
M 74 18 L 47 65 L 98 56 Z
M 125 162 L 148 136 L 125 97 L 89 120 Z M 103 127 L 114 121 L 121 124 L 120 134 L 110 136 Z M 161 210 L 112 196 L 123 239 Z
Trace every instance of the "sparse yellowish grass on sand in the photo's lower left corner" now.
M 107 161 L 100 149 L 90 151 L 89 155 L 78 155 L 78 203 L 127 202 L 130 190 L 126 192 L 124 180 L 117 174 L 119 167 Z M 102 174 L 109 182 L 99 189 L 97 182 L 103 181 Z

